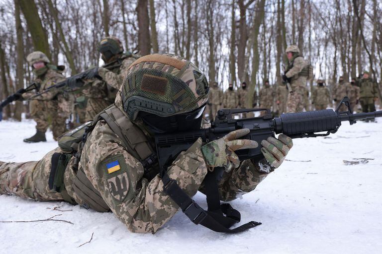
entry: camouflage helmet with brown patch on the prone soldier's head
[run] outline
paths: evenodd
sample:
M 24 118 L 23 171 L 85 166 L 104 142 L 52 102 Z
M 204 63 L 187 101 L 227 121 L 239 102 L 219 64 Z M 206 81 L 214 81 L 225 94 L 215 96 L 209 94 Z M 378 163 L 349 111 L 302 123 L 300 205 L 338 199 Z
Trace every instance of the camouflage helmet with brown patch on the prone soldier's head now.
M 123 111 L 169 117 L 204 108 L 209 85 L 190 61 L 172 54 L 141 57 L 127 69 L 121 89 Z

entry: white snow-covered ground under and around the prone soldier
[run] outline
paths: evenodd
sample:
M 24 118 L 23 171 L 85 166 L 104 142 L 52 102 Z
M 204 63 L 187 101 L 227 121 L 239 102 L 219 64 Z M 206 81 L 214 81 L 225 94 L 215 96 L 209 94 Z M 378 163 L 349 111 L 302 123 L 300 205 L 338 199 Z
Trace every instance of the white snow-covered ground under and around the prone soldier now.
M 134 234 L 112 213 L 65 202 L 36 202 L 0 195 L 0 252 L 11 253 L 382 253 L 382 119 L 343 123 L 327 138 L 294 139 L 287 160 L 255 191 L 232 202 L 248 232 L 219 234 L 192 224 L 178 212 L 152 234 Z M 0 160 L 38 160 L 56 147 L 26 144 L 34 123 L 0 122 Z M 345 165 L 343 160 L 366 164 Z M 195 196 L 205 205 L 204 196 Z M 56 209 L 54 209 L 56 207 Z M 58 207 L 58 208 L 57 208 Z M 62 211 L 59 211 L 59 210 Z M 78 247 L 91 239 L 90 243 Z

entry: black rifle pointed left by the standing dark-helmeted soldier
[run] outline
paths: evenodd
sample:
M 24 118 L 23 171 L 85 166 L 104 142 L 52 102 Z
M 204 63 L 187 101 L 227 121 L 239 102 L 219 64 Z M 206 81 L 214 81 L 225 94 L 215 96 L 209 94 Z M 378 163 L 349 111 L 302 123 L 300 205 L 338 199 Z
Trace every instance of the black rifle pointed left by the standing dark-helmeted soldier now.
M 121 66 L 122 64 L 122 61 L 123 59 L 126 58 L 126 57 L 122 57 L 122 58 L 119 58 L 111 63 L 108 63 L 108 64 L 104 64 L 102 65 L 102 67 L 108 69 L 108 70 L 112 70 L 116 67 L 119 67 Z M 32 97 L 29 98 L 29 100 L 33 99 L 33 98 L 36 98 L 44 93 L 47 93 L 49 92 L 50 90 L 52 89 L 57 89 L 57 88 L 61 88 L 61 89 L 64 89 L 64 87 L 69 87 L 71 90 L 75 90 L 77 88 L 80 88 L 82 87 L 85 82 L 83 81 L 84 79 L 92 79 L 92 78 L 98 78 L 98 79 L 102 79 L 99 75 L 98 75 L 98 67 L 94 67 L 94 68 L 90 68 L 88 70 L 85 70 L 84 72 L 81 72 L 81 73 L 78 73 L 76 75 L 73 75 L 71 77 L 68 77 L 67 79 L 61 81 L 61 82 L 58 82 L 54 85 L 51 85 L 47 88 L 45 88 L 44 91 L 42 91 L 41 93 L 38 93 L 36 95 L 33 95 Z

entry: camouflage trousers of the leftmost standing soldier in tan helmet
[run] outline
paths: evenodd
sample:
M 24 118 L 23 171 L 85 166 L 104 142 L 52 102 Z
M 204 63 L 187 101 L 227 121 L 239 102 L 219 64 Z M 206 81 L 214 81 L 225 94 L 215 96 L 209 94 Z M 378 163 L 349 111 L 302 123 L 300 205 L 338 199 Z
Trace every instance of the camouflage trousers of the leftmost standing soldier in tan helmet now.
M 60 97 L 50 101 L 32 100 L 29 107 L 38 131 L 46 132 L 51 119 L 53 138 L 57 140 L 57 137 L 66 131 L 65 121 L 72 112 L 73 101 Z

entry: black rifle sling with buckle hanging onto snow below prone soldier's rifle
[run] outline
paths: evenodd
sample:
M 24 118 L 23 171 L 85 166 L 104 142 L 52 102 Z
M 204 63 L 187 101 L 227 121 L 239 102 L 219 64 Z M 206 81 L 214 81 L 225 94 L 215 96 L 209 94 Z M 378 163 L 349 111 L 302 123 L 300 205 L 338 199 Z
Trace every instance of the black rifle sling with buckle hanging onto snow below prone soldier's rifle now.
M 216 174 L 211 172 L 208 172 L 204 179 L 206 187 L 211 185 L 206 188 L 208 211 L 205 211 L 178 186 L 176 180 L 167 175 L 165 170 L 162 172 L 164 191 L 193 223 L 219 233 L 239 233 L 260 225 L 260 222 L 250 221 L 237 228 L 229 229 L 233 224 L 240 221 L 240 213 L 229 204 L 220 205 L 217 181 Z

